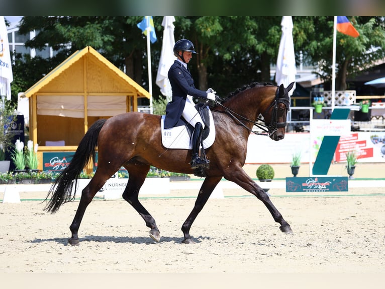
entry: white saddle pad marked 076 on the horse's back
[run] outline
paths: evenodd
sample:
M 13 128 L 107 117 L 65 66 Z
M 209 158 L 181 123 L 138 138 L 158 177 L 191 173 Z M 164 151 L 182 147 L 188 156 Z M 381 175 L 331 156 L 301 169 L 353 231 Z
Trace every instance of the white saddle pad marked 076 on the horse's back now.
M 203 148 L 207 149 L 212 146 L 215 140 L 215 125 L 213 114 L 210 114 L 210 133 L 209 136 L 203 141 Z M 187 127 L 185 125 L 175 126 L 171 128 L 164 128 L 164 115 L 162 115 L 161 128 L 162 128 L 162 144 L 168 149 L 185 149 L 191 150 L 191 140 L 188 135 Z

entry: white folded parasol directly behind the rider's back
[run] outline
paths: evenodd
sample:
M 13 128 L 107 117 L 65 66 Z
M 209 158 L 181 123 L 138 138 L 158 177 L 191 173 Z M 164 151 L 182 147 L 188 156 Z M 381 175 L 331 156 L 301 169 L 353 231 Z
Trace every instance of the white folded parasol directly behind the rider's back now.
M 172 90 L 170 81 L 168 80 L 168 69 L 176 57 L 174 56 L 174 24 L 175 17 L 173 16 L 164 16 L 162 26 L 163 30 L 163 41 L 162 41 L 162 50 L 160 51 L 160 60 L 158 66 L 158 73 L 156 75 L 156 84 L 160 88 L 160 92 L 167 97 L 167 100 L 171 100 Z

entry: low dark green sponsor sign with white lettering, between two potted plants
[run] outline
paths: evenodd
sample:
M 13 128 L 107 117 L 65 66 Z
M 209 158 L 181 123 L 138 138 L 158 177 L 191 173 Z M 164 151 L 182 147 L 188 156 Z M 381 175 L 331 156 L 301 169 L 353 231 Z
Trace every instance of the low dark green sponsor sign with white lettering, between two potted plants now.
M 348 177 L 286 178 L 286 192 L 347 192 Z

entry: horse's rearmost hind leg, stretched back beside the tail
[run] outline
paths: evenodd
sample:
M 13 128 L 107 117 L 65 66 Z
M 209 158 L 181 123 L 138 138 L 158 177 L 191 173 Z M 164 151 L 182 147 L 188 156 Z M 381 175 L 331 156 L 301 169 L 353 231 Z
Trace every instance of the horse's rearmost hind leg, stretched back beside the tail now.
M 68 243 L 71 244 L 72 246 L 79 245 L 79 238 L 77 236 L 77 232 L 79 230 L 81 220 L 83 219 L 85 209 L 87 208 L 89 203 L 92 201 L 95 194 L 106 183 L 106 180 L 108 178 L 110 178 L 110 176 L 103 176 L 103 174 L 101 174 L 100 171 L 98 173 L 98 170 L 97 170 L 95 175 L 92 177 L 91 181 L 82 190 L 79 205 L 77 207 L 72 224 L 69 226 L 72 236 L 70 239 L 68 239 Z

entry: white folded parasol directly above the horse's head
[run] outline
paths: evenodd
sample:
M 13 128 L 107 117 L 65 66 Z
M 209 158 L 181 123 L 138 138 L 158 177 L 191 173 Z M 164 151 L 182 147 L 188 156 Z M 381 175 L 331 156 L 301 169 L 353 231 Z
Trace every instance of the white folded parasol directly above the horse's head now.
M 296 56 L 294 54 L 293 41 L 293 19 L 291 16 L 283 16 L 281 21 L 282 36 L 279 43 L 277 66 L 275 71 L 275 82 L 287 87 L 294 82 L 293 89 L 289 92 L 292 95 L 296 89 Z

